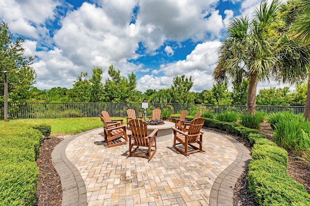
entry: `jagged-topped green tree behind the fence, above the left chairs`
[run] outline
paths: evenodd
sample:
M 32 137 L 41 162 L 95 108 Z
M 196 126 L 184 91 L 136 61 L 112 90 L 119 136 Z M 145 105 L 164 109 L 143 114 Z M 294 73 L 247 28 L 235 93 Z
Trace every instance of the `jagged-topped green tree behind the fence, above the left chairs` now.
M 111 103 L 142 102 L 141 92 L 137 88 L 136 75 L 128 74 L 128 79 L 121 76 L 120 70 L 109 66 L 107 78 L 104 84 L 104 101 Z

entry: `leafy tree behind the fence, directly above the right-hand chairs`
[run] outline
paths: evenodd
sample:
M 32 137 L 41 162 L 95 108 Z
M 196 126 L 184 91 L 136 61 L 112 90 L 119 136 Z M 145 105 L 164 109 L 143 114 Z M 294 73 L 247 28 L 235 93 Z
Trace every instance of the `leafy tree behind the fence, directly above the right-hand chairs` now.
M 194 95 L 190 92 L 193 87 L 192 77 L 181 76 L 173 77 L 173 85 L 171 85 L 170 95 L 171 103 L 194 103 Z

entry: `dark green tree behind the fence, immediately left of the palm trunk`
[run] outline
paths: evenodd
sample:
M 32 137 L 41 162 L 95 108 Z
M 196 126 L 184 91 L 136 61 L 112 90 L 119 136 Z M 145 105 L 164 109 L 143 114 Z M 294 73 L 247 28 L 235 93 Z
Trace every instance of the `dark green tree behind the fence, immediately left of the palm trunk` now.
M 232 99 L 233 104 L 244 105 L 247 104 L 248 95 L 248 80 L 244 79 L 242 82 L 233 82 Z

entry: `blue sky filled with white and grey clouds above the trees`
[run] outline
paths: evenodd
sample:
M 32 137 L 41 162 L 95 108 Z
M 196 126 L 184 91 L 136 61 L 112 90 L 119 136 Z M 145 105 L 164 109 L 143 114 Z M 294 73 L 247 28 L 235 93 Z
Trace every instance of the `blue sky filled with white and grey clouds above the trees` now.
M 260 0 L 1 0 L 0 19 L 37 55 L 39 89 L 72 88 L 81 72 L 108 68 L 137 76 L 137 89 L 170 88 L 192 76 L 192 91 L 213 87 L 226 26 Z M 283 87 L 261 83 L 264 87 Z

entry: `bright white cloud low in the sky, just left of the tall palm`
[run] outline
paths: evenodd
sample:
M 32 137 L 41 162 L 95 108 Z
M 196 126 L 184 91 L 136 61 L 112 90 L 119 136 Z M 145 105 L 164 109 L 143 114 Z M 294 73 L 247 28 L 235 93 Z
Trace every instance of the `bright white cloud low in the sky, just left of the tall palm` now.
M 191 54 L 187 55 L 186 60 L 162 65 L 160 70 L 152 74 L 163 72 L 165 77 L 155 77 L 153 75 L 144 75 L 138 81 L 138 88 L 145 91 L 152 84 L 155 88 L 170 88 L 174 76 L 185 74 L 192 76 L 193 91 L 202 91 L 211 89 L 213 86 L 213 70 L 217 63 L 217 48 L 221 43 L 218 41 L 205 42 L 198 44 Z M 164 80 L 164 81 L 162 81 Z M 148 83 L 149 82 L 149 83 Z

